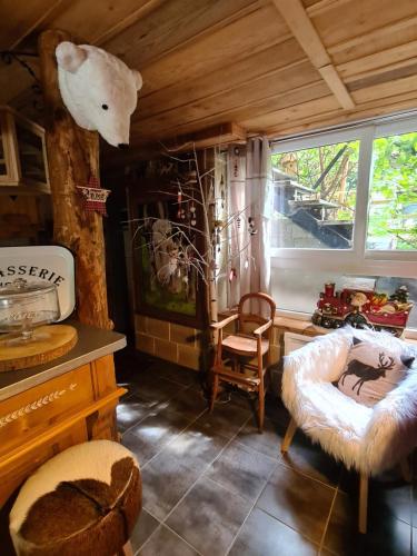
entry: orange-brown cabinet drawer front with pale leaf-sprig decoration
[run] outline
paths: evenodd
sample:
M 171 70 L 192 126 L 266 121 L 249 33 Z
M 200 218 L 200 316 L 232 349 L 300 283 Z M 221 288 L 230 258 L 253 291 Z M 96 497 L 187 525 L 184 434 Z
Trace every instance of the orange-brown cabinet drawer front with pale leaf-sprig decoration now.
M 93 401 L 89 365 L 0 403 L 0 457 Z

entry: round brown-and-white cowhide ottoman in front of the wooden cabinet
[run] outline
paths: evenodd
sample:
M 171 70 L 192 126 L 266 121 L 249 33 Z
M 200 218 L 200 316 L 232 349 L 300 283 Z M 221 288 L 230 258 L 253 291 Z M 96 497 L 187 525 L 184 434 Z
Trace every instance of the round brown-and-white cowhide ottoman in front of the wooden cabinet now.
M 10 512 L 19 556 L 112 556 L 141 509 L 140 470 L 120 444 L 91 440 L 43 464 Z

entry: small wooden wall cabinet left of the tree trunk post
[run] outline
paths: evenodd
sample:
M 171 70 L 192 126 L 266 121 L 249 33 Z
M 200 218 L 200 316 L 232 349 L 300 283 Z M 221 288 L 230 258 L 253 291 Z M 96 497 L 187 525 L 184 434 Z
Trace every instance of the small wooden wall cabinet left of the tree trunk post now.
M 0 107 L 0 192 L 49 193 L 44 130 Z

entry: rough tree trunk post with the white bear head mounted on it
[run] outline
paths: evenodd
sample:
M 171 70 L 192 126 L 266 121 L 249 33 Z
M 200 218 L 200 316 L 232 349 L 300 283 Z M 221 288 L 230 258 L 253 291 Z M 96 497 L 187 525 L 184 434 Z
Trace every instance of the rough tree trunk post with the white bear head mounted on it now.
M 53 210 L 53 241 L 76 259 L 77 315 L 80 322 L 111 329 L 108 316 L 105 238 L 101 216 L 86 212 L 77 186 L 99 178 L 99 137 L 75 122 L 58 87 L 57 46 L 69 33 L 49 30 L 39 38 L 46 142 Z

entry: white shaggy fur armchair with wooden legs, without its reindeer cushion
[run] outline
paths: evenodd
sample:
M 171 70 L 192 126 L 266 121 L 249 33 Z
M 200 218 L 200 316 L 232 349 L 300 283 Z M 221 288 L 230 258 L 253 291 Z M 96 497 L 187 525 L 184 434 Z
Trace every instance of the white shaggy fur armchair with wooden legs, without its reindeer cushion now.
M 374 407 L 339 391 L 353 336 L 399 353 L 410 350 L 386 332 L 344 328 L 315 338 L 285 358 L 282 401 L 291 414 L 281 450 L 297 427 L 348 468 L 360 473 L 359 530 L 366 532 L 368 476 L 405 461 L 417 445 L 417 366 Z

